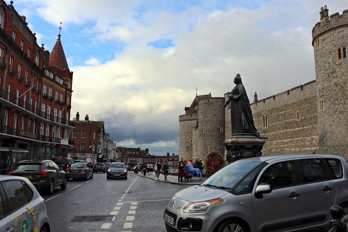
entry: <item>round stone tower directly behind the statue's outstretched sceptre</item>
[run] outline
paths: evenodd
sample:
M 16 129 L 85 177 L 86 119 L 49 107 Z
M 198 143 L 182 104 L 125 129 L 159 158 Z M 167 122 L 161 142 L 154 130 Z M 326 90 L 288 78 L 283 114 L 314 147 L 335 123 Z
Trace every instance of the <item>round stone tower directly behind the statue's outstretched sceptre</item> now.
M 196 159 L 205 159 L 209 150 L 224 154 L 225 112 L 222 110 L 214 117 L 214 114 L 221 109 L 224 102 L 223 97 L 213 97 L 200 100 L 198 103 L 199 152 Z M 203 111 L 203 117 L 201 117 L 201 111 Z

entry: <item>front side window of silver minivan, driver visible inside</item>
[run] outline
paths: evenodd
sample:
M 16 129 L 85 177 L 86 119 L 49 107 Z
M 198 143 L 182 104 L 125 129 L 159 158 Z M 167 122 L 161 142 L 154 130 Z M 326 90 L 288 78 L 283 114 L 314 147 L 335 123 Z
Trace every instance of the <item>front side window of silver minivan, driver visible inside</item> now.
M 270 184 L 272 189 L 294 185 L 295 174 L 292 162 L 280 162 L 268 167 L 263 172 L 260 183 Z

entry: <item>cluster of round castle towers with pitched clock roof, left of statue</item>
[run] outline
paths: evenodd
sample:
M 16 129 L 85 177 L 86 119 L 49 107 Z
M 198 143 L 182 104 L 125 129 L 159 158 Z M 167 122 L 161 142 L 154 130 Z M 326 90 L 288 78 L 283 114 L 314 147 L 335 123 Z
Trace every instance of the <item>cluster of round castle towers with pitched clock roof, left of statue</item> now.
M 185 114 L 179 116 L 179 156 L 180 159 L 205 159 L 210 151 L 225 152 L 225 115 L 221 109 L 223 97 L 198 95 Z

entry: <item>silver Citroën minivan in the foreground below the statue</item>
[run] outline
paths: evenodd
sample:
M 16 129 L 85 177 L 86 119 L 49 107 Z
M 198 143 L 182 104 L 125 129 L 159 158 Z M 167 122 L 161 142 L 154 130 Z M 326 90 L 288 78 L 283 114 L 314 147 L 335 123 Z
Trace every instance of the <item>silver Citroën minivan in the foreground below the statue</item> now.
M 348 162 L 336 155 L 238 160 L 201 185 L 177 192 L 167 232 L 284 232 L 329 226 L 330 208 L 348 209 Z

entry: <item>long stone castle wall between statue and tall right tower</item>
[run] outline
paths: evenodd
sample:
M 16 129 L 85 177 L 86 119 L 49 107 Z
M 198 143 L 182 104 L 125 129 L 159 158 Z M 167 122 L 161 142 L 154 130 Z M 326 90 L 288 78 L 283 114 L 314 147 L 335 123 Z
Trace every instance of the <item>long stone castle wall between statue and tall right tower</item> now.
M 318 145 L 315 81 L 250 106 L 261 137 L 268 137 L 262 155 L 308 154 L 315 151 Z M 265 127 L 264 115 L 267 116 Z

